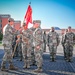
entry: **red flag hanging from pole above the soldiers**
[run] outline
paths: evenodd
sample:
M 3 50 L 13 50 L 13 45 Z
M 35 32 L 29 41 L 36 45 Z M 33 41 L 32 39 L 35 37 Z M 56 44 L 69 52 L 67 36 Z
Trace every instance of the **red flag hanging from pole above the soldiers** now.
M 32 23 L 32 8 L 30 5 L 27 8 L 27 11 L 24 17 L 24 21 L 26 23 L 27 28 L 28 28 L 28 24 Z

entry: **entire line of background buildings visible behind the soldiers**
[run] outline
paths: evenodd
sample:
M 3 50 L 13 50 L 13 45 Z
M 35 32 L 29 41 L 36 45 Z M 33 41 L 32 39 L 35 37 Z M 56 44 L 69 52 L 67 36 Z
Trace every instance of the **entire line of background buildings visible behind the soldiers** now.
M 0 14 L 0 32 L 3 31 L 3 27 L 8 23 L 8 18 L 11 16 L 9 14 Z M 41 20 L 34 20 L 34 21 L 39 21 L 41 23 Z M 20 20 L 15 20 L 14 21 L 14 28 L 16 30 L 19 30 L 21 27 L 21 21 Z M 43 31 L 46 32 L 46 34 L 50 31 L 50 29 L 42 29 Z M 59 35 L 62 35 L 65 33 L 65 29 L 60 29 L 59 27 L 55 27 L 56 32 Z M 75 29 L 72 29 L 72 31 L 75 33 Z

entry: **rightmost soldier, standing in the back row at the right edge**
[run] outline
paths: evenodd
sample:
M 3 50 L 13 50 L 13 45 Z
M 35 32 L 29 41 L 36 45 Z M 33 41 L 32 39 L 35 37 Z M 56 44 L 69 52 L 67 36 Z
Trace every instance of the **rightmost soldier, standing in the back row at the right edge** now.
M 65 46 L 65 52 L 66 52 L 66 60 L 68 62 L 72 61 L 73 57 L 73 45 L 75 41 L 75 34 L 72 32 L 71 27 L 68 27 L 68 32 L 65 34 L 64 37 L 64 46 Z

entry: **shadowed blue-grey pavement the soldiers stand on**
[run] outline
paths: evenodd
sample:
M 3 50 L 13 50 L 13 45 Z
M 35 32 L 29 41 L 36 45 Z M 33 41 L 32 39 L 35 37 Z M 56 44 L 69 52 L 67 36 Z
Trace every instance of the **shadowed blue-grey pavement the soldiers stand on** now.
M 44 61 L 42 73 L 36 73 L 33 71 L 36 66 L 31 66 L 31 69 L 23 69 L 23 61 L 17 61 L 17 59 L 14 59 L 14 65 L 17 66 L 19 70 L 9 70 L 8 72 L 0 71 L 0 75 L 75 75 L 75 48 L 73 53 L 73 62 L 66 62 L 63 57 L 63 48 L 60 44 L 57 48 L 56 62 L 50 61 L 49 50 L 48 48 L 46 49 L 46 53 L 43 54 Z M 0 47 L 0 64 L 3 54 L 3 47 Z

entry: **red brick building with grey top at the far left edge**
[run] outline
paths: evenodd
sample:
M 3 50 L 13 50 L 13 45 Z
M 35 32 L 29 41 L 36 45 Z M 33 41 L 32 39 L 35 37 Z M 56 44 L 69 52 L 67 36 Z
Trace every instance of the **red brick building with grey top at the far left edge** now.
M 0 32 L 2 32 L 3 27 L 8 23 L 8 18 L 10 17 L 9 14 L 0 14 Z

